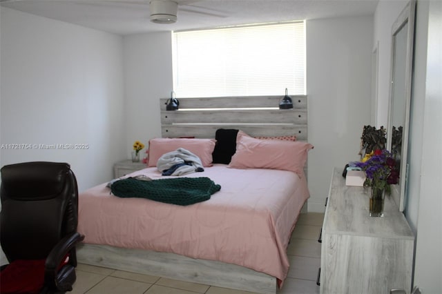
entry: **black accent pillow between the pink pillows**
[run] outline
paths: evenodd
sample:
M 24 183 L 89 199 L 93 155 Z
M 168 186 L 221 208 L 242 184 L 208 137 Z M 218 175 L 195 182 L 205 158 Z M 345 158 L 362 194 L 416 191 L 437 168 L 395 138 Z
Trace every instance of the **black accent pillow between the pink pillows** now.
M 238 130 L 219 128 L 216 130 L 216 145 L 213 149 L 212 158 L 214 164 L 229 164 L 232 156 L 236 153 L 236 135 Z

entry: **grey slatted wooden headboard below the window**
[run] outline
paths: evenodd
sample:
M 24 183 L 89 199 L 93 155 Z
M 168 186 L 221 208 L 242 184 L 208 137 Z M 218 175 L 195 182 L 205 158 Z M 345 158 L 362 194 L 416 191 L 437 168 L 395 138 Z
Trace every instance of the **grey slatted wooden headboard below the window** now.
M 296 135 L 307 141 L 307 96 L 291 96 L 294 108 L 280 110 L 281 96 L 178 98 L 179 110 L 160 99 L 162 137 L 215 138 L 218 128 L 251 136 Z

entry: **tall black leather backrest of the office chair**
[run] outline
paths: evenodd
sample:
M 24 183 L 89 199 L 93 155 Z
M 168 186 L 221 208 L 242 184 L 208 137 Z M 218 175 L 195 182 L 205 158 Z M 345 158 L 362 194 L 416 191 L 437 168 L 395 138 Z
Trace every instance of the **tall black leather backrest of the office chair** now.
M 69 164 L 25 162 L 1 168 L 0 242 L 9 262 L 45 259 L 77 231 L 78 188 Z

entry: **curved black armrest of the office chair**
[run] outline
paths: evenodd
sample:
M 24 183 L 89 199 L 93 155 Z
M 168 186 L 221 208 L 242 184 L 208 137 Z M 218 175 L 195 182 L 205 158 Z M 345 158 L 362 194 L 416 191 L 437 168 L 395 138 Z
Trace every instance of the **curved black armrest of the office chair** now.
M 80 235 L 78 232 L 67 235 L 61 239 L 54 248 L 50 251 L 48 257 L 46 257 L 45 262 L 45 282 L 50 284 L 54 283 L 55 275 L 57 273 L 58 267 L 63 261 L 64 257 L 72 251 L 78 242 L 84 239 L 84 235 Z M 75 255 L 70 258 L 75 258 Z M 51 282 L 52 281 L 52 282 Z

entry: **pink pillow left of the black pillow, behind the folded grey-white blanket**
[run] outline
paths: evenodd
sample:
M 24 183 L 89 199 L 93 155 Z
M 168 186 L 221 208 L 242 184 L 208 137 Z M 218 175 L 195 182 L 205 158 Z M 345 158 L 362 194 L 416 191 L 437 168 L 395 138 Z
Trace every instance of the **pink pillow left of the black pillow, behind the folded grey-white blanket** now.
M 202 166 L 212 166 L 212 153 L 215 139 L 156 138 L 149 141 L 148 167 L 157 166 L 157 161 L 165 153 L 184 148 L 200 157 Z

